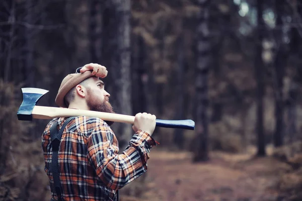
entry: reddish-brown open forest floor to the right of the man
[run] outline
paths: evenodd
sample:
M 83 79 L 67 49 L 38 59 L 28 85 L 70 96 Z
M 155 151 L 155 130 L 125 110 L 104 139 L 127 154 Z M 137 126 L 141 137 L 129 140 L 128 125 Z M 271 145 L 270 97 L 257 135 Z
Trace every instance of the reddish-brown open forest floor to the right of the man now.
M 275 189 L 280 176 L 290 167 L 270 156 L 256 158 L 255 151 L 251 148 L 246 154 L 211 152 L 209 161 L 192 163 L 192 154 L 188 152 L 152 150 L 139 198 L 121 196 L 121 201 L 283 200 Z

